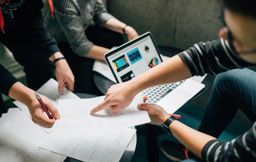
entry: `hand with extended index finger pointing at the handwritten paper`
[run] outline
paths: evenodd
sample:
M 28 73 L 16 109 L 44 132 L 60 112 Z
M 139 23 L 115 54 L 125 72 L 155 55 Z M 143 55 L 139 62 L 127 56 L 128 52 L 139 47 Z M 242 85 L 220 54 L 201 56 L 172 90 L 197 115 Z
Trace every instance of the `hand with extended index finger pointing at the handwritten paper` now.
M 124 82 L 112 85 L 106 93 L 104 101 L 91 110 L 94 114 L 108 106 L 111 106 L 111 112 L 117 113 L 132 103 L 137 92 L 132 89 L 133 82 Z

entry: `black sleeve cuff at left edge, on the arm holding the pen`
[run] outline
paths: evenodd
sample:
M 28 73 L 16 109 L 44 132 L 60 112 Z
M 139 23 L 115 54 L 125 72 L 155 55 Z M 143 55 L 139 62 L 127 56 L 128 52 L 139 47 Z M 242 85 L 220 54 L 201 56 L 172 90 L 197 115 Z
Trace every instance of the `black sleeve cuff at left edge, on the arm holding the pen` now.
M 19 80 L 0 64 L 0 93 L 9 96 L 9 90 L 16 82 Z

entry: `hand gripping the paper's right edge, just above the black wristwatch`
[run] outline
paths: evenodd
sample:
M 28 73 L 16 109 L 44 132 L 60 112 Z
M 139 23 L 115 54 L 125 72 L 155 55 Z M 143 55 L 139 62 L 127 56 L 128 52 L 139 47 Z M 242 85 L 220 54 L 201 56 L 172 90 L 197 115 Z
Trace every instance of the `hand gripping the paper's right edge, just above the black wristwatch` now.
M 147 97 L 143 97 L 143 101 L 145 103 Z M 154 104 L 138 104 L 137 105 L 138 109 L 140 110 L 146 110 L 151 122 L 150 124 L 155 124 L 155 125 L 161 125 L 163 124 L 169 117 L 170 115 L 165 112 L 165 110 Z

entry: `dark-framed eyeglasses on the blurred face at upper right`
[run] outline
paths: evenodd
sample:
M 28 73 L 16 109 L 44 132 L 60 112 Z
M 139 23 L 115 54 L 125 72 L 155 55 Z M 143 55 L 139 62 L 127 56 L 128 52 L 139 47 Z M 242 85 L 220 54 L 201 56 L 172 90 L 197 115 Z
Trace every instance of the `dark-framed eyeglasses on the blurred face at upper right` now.
M 224 31 L 225 33 L 227 34 L 228 36 L 228 43 L 229 43 L 229 46 L 233 49 L 233 51 L 236 52 L 236 48 L 234 47 L 234 44 L 233 44 L 233 37 L 232 37 L 232 34 L 230 33 L 230 30 L 226 24 L 226 21 L 225 21 L 225 16 L 224 16 L 224 8 L 222 7 L 221 8 L 221 18 L 223 20 L 223 23 L 224 23 Z M 237 52 L 236 52 L 237 53 Z M 250 50 L 250 51 L 239 51 L 239 53 L 241 54 L 251 54 L 251 53 L 256 53 L 256 49 L 255 50 Z

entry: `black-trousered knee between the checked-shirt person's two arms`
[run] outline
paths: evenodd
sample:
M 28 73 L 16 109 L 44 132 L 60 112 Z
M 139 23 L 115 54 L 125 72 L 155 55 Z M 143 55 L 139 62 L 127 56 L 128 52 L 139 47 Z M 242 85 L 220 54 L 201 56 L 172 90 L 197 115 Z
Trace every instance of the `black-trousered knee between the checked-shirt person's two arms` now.
M 94 45 L 112 48 L 113 46 L 121 46 L 123 44 L 122 34 L 109 30 L 107 28 L 100 28 L 98 25 L 92 24 L 85 31 L 87 38 L 94 43 Z

